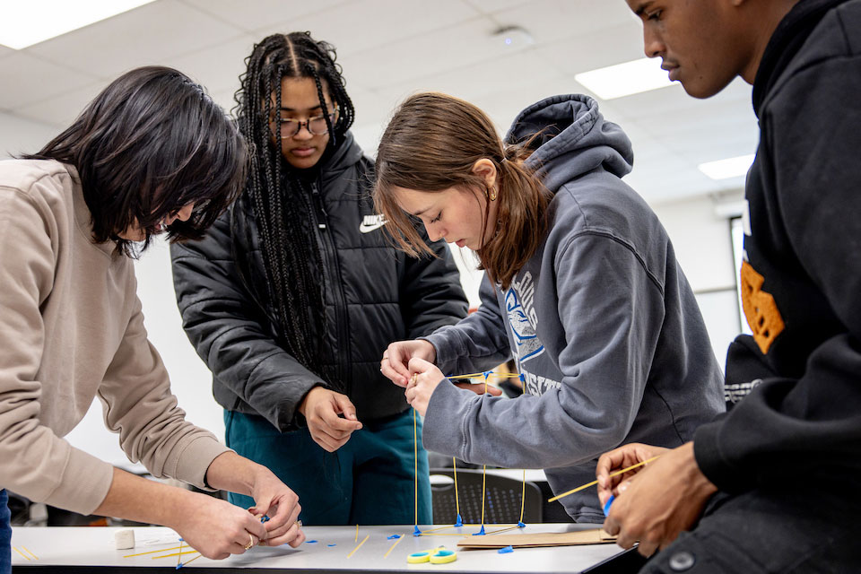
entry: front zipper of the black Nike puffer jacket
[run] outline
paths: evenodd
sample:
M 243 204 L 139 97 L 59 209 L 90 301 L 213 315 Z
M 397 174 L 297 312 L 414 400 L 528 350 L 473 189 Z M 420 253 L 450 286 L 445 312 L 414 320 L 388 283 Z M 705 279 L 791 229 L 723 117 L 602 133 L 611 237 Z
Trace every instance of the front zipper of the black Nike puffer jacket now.
M 334 277 L 330 280 L 329 286 L 335 296 L 335 322 L 337 323 L 337 357 L 336 365 L 338 378 L 344 383 L 344 395 L 349 396 L 352 391 L 352 371 L 350 370 L 350 325 L 347 314 L 347 298 L 344 295 L 344 282 L 341 280 L 341 262 L 338 260 L 338 251 L 335 248 L 335 239 L 328 231 L 328 214 L 326 207 L 323 205 L 323 197 L 320 195 L 317 182 L 311 184 L 311 198 L 314 201 L 315 215 L 317 221 L 317 233 L 320 238 L 320 243 L 323 246 L 323 265 L 325 269 L 322 272 L 325 274 L 326 269 L 335 271 Z M 333 281 L 334 280 L 334 281 Z M 325 294 L 324 294 L 325 295 Z M 325 301 L 324 301 L 325 305 Z

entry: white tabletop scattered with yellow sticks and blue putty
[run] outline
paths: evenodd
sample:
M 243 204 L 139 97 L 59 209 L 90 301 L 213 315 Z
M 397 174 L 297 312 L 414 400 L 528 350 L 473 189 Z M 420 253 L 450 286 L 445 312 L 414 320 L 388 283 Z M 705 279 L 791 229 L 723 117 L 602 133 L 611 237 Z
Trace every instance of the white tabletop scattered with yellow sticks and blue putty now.
M 433 526 L 420 526 L 428 530 Z M 540 532 L 566 532 L 594 526 L 574 524 L 535 524 L 523 529 L 510 530 L 505 534 Z M 496 526 L 485 526 L 488 532 Z M 113 527 L 15 527 L 12 535 L 12 563 L 15 574 L 19 572 L 91 572 L 109 570 L 111 572 L 175 571 L 177 557 L 155 558 L 177 552 L 165 551 L 126 558 L 128 554 L 151 550 L 170 549 L 178 546 L 178 535 L 169 528 L 135 528 L 135 549 L 116 550 Z M 199 569 L 223 574 L 248 569 L 268 570 L 270 572 L 579 572 L 604 561 L 622 549 L 615 544 L 589 546 L 560 546 L 551 548 L 517 548 L 514 552 L 499 553 L 496 550 L 458 550 L 457 541 L 463 535 L 470 535 L 477 528 L 448 528 L 445 533 L 453 535 L 413 536 L 413 526 L 359 526 L 358 542 L 355 526 L 306 526 L 308 540 L 298 549 L 289 546 L 269 548 L 257 546 L 245 554 L 230 556 L 222 561 L 198 558 L 187 565 L 187 569 Z M 460 534 L 457 534 L 457 533 Z M 356 547 L 364 540 L 368 540 Z M 388 553 L 396 539 L 403 538 Z M 449 564 L 408 564 L 406 557 L 412 552 L 429 550 L 445 545 L 457 551 L 457 561 Z M 26 548 L 37 559 L 27 560 L 16 549 Z M 353 552 L 355 551 L 355 552 Z M 350 555 L 352 552 L 352 556 Z M 181 557 L 183 562 L 197 554 Z

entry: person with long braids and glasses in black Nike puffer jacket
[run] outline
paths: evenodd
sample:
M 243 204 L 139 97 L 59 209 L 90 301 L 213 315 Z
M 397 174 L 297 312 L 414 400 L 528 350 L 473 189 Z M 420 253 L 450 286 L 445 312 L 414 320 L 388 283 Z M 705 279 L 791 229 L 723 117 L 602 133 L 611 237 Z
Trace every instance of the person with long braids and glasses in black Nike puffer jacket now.
M 430 523 L 427 453 L 420 440 L 414 511 L 413 416 L 379 356 L 465 316 L 457 267 L 441 241 L 413 258 L 385 234 L 335 48 L 274 34 L 241 81 L 245 192 L 206 238 L 171 249 L 227 445 L 300 494 L 306 525 Z

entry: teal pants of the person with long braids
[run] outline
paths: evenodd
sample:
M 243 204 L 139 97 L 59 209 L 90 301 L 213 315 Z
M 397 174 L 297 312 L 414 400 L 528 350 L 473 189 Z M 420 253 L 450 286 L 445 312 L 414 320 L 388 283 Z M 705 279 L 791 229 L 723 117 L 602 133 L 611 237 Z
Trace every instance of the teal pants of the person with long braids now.
M 299 495 L 306 526 L 413 524 L 415 483 L 413 410 L 378 422 L 362 422 L 343 447 L 326 452 L 308 429 L 280 432 L 263 417 L 224 412 L 227 446 L 268 467 Z M 417 417 L 418 523 L 431 524 L 428 452 Z M 230 492 L 230 502 L 254 500 Z

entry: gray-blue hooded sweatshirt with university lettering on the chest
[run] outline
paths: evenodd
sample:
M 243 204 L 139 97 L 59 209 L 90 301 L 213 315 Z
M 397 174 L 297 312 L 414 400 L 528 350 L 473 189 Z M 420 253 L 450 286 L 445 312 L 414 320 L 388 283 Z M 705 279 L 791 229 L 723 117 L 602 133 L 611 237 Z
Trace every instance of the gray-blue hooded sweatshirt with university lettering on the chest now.
M 529 162 L 554 195 L 546 238 L 509 289 L 485 277 L 478 311 L 426 337 L 448 375 L 515 357 L 525 395 L 476 396 L 443 381 L 423 442 L 471 463 L 544 468 L 559 493 L 595 480 L 597 457 L 622 443 L 683 444 L 724 401 L 673 245 L 622 182 L 627 135 L 582 95 L 525 109 L 507 140 L 542 130 Z M 561 502 L 580 522 L 604 520 L 595 489 Z

